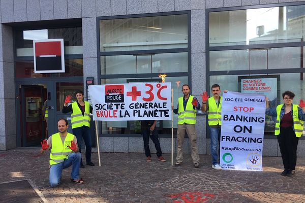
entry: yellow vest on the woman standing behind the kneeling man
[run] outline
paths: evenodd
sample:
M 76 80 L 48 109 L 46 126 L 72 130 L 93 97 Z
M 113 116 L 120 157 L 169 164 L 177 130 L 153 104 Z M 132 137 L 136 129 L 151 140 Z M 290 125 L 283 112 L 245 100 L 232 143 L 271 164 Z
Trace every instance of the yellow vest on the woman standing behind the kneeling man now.
M 85 103 L 85 113 L 82 115 L 80 108 L 77 105 L 77 101 L 72 103 L 73 113 L 71 114 L 71 124 L 72 129 L 81 126 L 90 127 L 90 105 L 88 101 L 84 101 Z

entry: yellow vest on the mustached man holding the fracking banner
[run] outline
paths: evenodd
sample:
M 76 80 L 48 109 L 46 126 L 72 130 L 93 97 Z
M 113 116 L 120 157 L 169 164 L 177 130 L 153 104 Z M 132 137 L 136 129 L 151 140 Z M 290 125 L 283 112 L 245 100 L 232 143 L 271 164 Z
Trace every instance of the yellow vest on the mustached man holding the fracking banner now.
M 207 120 L 208 125 L 221 125 L 221 101 L 222 97 L 219 97 L 219 105 L 217 107 L 214 96 L 208 98 L 208 111 Z

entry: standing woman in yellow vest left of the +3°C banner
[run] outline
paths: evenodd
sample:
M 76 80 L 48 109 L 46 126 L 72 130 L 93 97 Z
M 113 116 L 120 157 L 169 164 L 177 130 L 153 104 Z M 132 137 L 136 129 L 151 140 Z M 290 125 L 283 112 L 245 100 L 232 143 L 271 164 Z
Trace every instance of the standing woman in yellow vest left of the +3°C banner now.
M 91 150 L 92 150 L 92 141 L 90 134 L 90 113 L 92 113 L 92 106 L 88 103 L 88 101 L 84 101 L 84 93 L 82 91 L 77 91 L 75 93 L 77 101 L 73 102 L 71 105 L 71 96 L 67 95 L 65 104 L 63 107 L 63 113 L 71 113 L 71 124 L 72 124 L 72 132 L 77 138 L 77 143 L 79 147 L 79 152 L 81 153 L 81 138 L 84 139 L 86 146 L 86 164 L 90 166 L 94 166 L 94 163 L 91 161 Z M 85 167 L 80 162 L 80 167 Z

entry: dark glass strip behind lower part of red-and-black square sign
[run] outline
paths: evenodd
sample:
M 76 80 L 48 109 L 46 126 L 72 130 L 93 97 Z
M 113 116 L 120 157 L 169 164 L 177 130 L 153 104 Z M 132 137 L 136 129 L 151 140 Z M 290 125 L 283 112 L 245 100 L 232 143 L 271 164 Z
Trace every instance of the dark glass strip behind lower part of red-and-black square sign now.
M 34 73 L 34 61 L 16 61 L 16 78 L 83 76 L 83 59 L 65 60 L 65 73 Z

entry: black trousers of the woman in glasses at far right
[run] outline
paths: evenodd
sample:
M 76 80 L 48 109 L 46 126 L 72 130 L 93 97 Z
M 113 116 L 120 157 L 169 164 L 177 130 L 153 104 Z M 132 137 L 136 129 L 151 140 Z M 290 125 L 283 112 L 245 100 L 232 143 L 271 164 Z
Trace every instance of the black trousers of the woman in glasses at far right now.
M 296 149 L 299 138 L 295 137 L 295 132 L 291 127 L 281 127 L 280 134 L 277 136 L 280 146 L 284 169 L 295 170 Z

